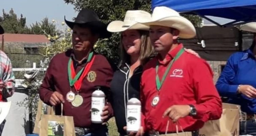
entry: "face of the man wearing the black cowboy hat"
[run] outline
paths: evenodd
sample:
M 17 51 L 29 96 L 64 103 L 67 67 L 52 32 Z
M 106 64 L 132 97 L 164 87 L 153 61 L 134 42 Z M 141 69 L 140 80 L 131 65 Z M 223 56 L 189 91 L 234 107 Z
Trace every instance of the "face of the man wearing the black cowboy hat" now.
M 81 28 L 77 25 L 73 28 L 72 44 L 76 51 L 85 51 L 93 48 L 93 44 L 98 40 L 98 35 L 93 35 L 88 28 Z

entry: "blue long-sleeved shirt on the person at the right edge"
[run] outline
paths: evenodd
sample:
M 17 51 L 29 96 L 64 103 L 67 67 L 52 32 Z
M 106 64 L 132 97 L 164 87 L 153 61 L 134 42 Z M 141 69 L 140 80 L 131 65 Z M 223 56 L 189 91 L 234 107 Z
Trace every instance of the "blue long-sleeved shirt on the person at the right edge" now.
M 251 85 L 256 88 L 256 60 L 250 49 L 232 54 L 219 77 L 216 88 L 229 103 L 241 105 L 247 114 L 256 113 L 256 99 L 238 95 L 238 85 Z

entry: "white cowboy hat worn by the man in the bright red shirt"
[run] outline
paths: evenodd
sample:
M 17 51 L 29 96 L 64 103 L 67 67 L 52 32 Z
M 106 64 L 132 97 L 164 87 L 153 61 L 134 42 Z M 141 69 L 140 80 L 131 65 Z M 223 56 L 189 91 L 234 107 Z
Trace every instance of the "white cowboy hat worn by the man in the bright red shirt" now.
M 196 29 L 194 25 L 186 18 L 171 8 L 165 6 L 155 7 L 152 17 L 147 21 L 145 19 L 138 20 L 139 23 L 146 26 L 164 26 L 175 28 L 180 31 L 179 37 L 193 38 L 196 36 Z

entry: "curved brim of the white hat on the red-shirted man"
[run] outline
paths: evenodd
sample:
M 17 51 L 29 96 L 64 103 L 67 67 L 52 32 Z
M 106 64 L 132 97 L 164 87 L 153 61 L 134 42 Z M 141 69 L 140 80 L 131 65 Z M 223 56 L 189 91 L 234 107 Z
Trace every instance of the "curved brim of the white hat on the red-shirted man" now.
M 181 16 L 166 17 L 140 23 L 145 24 L 146 26 L 163 26 L 175 28 L 180 31 L 179 37 L 184 39 L 189 39 L 196 36 L 196 29 L 193 24 Z

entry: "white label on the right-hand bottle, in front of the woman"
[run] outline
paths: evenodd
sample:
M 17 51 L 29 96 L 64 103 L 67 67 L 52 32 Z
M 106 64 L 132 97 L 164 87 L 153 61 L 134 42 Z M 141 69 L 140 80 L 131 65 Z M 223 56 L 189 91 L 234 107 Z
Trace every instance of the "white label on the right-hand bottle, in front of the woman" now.
M 127 131 L 138 131 L 141 127 L 141 106 L 127 105 Z

